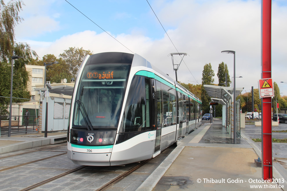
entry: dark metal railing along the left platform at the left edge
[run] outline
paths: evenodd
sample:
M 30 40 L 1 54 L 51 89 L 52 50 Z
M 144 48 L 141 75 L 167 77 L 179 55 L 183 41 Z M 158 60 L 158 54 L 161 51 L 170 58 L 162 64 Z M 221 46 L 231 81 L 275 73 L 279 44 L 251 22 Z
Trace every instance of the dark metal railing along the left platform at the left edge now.
M 11 119 L 11 135 L 38 132 L 38 117 L 36 115 L 13 115 Z M 0 116 L 0 135 L 8 136 L 9 116 Z

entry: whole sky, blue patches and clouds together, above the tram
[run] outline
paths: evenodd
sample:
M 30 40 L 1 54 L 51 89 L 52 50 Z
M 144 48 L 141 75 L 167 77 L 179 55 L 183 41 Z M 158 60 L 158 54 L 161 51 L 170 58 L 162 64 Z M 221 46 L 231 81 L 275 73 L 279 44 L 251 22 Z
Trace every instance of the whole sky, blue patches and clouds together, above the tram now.
M 69 47 L 83 47 L 94 54 L 137 53 L 175 79 L 168 54 L 178 51 L 188 54 L 179 66 L 178 80 L 201 84 L 206 63 L 212 65 L 215 83 L 218 83 L 216 74 L 221 62 L 228 65 L 230 77 L 234 76 L 233 55 L 221 53 L 233 50 L 236 52 L 236 76 L 243 77 L 236 78 L 236 86 L 243 87 L 243 93 L 251 91 L 252 86 L 258 88 L 261 78 L 261 0 L 23 2 L 26 6 L 20 16 L 24 21 L 16 27 L 16 39 L 30 44 L 40 58 L 46 54 L 59 57 Z M 278 84 L 281 95 L 287 95 L 286 21 L 287 2 L 273 0 L 272 79 Z M 175 62 L 181 60 L 176 55 L 174 59 Z M 286 83 L 280 83 L 282 81 Z

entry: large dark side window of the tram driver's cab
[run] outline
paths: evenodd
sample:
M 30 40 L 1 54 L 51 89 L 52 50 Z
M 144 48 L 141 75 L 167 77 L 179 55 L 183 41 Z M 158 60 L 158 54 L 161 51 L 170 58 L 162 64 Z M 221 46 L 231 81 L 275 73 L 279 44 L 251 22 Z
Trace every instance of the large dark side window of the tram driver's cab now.
M 124 111 L 123 133 L 150 129 L 150 82 L 134 76 Z

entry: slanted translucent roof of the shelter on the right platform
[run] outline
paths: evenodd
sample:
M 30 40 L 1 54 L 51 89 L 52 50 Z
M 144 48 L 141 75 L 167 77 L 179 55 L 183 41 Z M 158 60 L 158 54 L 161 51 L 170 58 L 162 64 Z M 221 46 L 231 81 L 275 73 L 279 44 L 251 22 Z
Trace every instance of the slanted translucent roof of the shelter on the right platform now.
M 209 97 L 219 98 L 219 99 L 225 99 L 225 97 L 229 97 L 229 95 L 223 89 L 228 91 L 230 94 L 232 94 L 234 91 L 233 87 L 224 87 L 224 86 L 215 86 L 215 85 L 203 85 L 203 87 L 205 88 Z M 236 97 L 239 96 L 242 90 L 243 88 L 236 88 L 235 96 Z

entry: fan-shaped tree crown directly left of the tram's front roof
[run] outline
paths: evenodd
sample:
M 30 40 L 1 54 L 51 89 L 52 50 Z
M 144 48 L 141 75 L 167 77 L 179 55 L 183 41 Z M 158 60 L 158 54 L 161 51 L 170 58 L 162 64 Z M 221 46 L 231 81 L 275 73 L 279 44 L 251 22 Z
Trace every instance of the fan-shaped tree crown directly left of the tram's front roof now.
M 93 52 L 90 50 L 84 50 L 83 47 L 81 48 L 72 48 L 70 47 L 67 50 L 64 50 L 63 54 L 60 54 L 59 56 L 63 58 L 63 60 L 66 62 L 66 64 L 69 67 L 70 74 L 76 78 L 78 74 L 79 67 L 83 61 L 83 59 L 86 57 L 86 55 L 92 55 Z

